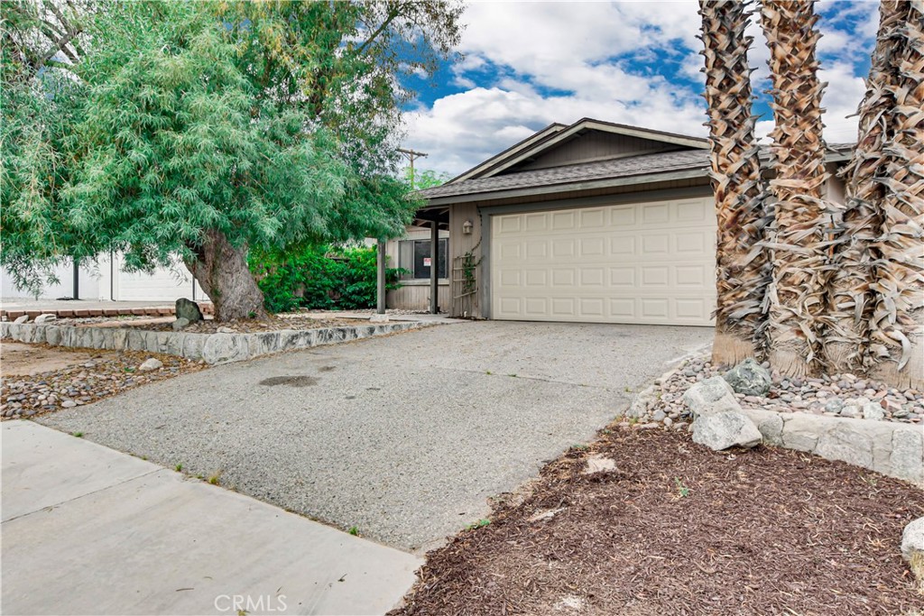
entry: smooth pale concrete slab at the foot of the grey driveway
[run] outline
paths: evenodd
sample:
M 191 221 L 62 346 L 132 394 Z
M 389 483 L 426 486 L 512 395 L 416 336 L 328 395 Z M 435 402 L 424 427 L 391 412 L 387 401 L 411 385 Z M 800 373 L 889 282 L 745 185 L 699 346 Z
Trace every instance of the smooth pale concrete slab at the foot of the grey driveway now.
M 29 421 L 2 445 L 5 614 L 376 614 L 421 564 Z

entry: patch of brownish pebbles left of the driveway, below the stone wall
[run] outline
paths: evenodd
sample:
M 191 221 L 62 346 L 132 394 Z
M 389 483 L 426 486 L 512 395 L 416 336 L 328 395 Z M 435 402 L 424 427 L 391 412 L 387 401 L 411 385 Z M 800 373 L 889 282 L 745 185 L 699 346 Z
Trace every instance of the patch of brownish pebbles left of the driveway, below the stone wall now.
M 5 343 L 4 347 L 11 345 Z M 63 354 L 71 358 L 67 366 L 28 374 L 26 363 L 6 362 L 4 350 L 3 385 L 0 387 L 0 417 L 4 419 L 32 417 L 55 411 L 87 405 L 116 393 L 134 389 L 139 385 L 170 379 L 187 372 L 205 368 L 201 362 L 182 357 L 136 351 L 87 351 L 79 356 L 72 349 L 47 344 L 21 344 L 39 350 L 43 356 Z M 157 359 L 161 368 L 141 370 L 148 359 Z M 25 374 L 8 373 L 6 366 Z M 19 368 L 19 369 L 15 369 Z

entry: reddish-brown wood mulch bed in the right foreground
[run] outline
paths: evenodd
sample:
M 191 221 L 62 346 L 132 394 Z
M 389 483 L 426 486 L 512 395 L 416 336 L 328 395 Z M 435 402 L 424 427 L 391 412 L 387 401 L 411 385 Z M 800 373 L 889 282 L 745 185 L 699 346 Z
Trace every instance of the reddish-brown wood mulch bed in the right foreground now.
M 594 453 L 615 470 L 582 474 Z M 921 515 L 924 491 L 844 463 L 603 430 L 432 551 L 390 613 L 910 614 L 899 544 Z

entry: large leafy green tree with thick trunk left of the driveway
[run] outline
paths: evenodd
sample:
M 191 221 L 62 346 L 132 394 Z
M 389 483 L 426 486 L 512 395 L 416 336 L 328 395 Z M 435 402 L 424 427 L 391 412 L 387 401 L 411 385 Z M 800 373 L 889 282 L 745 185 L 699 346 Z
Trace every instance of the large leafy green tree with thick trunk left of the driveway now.
M 120 250 L 150 268 L 178 256 L 218 319 L 263 314 L 249 247 L 400 233 L 417 205 L 394 175 L 400 74 L 451 53 L 459 13 L 444 2 L 103 5 L 67 97 L 39 96 L 74 116 L 43 146 L 66 176 L 41 207 L 21 199 L 29 182 L 4 178 L 21 204 L 4 212 L 17 231 L 7 241 L 31 255 L 7 260 L 5 247 L 5 264 Z M 30 169 L 36 148 L 10 137 L 24 143 L 12 166 Z M 30 252 L 34 228 L 55 248 Z

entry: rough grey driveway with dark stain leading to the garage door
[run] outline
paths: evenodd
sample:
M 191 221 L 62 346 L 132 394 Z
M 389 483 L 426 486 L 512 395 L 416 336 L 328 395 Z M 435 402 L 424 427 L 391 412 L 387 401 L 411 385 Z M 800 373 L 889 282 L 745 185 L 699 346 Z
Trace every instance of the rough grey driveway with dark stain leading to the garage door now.
M 589 440 L 711 335 L 448 324 L 211 368 L 41 422 L 420 551 Z

